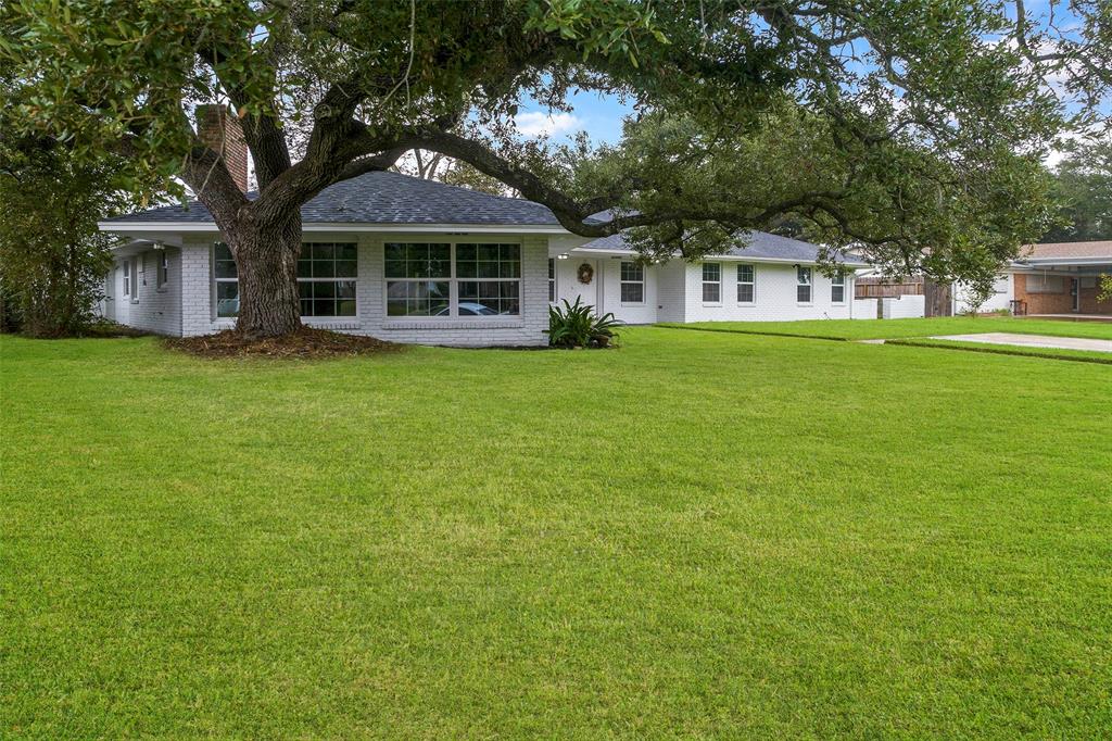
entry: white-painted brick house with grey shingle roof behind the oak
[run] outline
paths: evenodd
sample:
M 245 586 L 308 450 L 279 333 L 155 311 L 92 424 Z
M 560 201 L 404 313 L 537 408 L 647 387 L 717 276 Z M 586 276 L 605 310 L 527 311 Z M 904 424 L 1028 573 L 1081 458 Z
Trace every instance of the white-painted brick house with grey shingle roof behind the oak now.
M 173 336 L 235 325 L 235 264 L 199 202 L 100 227 L 121 237 L 108 318 Z M 631 324 L 853 314 L 852 269 L 827 278 L 806 243 L 756 233 L 704 263 L 641 265 L 620 236 L 574 236 L 538 204 L 393 172 L 325 189 L 302 229 L 302 320 L 394 342 L 544 345 L 549 303 L 576 297 Z

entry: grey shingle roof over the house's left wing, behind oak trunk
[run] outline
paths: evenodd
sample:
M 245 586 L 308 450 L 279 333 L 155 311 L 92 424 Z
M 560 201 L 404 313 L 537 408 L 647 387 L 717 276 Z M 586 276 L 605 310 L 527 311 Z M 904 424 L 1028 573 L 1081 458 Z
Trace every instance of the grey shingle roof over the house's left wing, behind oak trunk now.
M 248 198 L 258 197 L 250 192 Z M 321 190 L 301 206 L 306 224 L 498 224 L 559 226 L 550 210 L 522 198 L 505 198 L 423 180 L 398 172 L 368 172 Z M 112 221 L 212 224 L 197 200 L 118 216 Z

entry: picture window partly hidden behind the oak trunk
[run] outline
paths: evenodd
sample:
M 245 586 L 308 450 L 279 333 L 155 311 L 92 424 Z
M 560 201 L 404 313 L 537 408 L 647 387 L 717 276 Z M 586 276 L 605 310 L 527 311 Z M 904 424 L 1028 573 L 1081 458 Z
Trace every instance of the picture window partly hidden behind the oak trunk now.
M 358 249 L 346 243 L 305 243 L 297 260 L 297 290 L 301 316 L 355 316 L 355 281 Z M 231 250 L 217 243 L 212 248 L 216 315 L 239 315 L 239 274 Z

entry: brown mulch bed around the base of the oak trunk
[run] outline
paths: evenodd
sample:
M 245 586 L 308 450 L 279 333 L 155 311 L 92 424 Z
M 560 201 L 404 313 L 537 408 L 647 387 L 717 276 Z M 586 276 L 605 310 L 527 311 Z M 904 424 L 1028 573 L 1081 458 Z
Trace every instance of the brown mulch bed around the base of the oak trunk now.
M 395 343 L 301 327 L 281 337 L 249 338 L 235 329 L 203 337 L 167 337 L 167 347 L 200 357 L 325 358 L 396 352 Z

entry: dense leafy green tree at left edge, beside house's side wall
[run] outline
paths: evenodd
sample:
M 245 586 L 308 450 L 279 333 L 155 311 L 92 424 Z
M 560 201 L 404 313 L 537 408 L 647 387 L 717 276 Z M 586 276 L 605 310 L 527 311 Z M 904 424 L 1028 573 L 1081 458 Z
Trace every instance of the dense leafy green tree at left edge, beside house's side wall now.
M 0 292 L 8 328 L 79 335 L 95 318 L 111 265 L 98 218 L 135 202 L 115 187 L 121 162 L 75 161 L 63 149 L 0 146 Z

